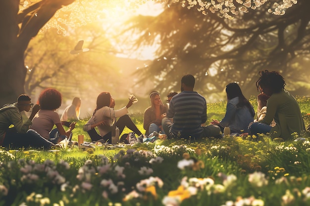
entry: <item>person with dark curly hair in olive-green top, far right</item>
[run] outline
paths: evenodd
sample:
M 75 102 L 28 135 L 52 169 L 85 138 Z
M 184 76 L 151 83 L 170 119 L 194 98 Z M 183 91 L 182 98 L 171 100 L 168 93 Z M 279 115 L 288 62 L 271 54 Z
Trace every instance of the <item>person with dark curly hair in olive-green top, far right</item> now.
M 294 132 L 301 133 L 305 124 L 296 99 L 284 89 L 286 83 L 278 72 L 260 71 L 256 82 L 258 91 L 269 96 L 266 115 L 249 127 L 249 134 L 270 133 L 271 138 L 292 139 Z M 275 126 L 270 126 L 274 119 Z

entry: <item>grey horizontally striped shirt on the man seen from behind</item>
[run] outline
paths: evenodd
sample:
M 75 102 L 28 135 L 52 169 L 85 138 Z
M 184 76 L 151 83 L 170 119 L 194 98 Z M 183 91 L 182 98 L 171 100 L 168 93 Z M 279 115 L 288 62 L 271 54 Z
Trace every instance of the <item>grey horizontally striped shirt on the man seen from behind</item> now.
M 173 118 L 171 131 L 176 137 L 199 136 L 207 121 L 206 99 L 196 91 L 182 91 L 172 97 L 167 118 Z

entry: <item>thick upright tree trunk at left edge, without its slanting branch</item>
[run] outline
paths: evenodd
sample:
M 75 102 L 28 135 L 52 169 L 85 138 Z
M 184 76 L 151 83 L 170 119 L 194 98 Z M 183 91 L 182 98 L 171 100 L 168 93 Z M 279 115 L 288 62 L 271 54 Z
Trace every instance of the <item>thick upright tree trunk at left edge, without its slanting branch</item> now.
M 17 46 L 19 0 L 2 1 L 0 7 L 0 107 L 16 102 L 24 93 L 24 51 Z

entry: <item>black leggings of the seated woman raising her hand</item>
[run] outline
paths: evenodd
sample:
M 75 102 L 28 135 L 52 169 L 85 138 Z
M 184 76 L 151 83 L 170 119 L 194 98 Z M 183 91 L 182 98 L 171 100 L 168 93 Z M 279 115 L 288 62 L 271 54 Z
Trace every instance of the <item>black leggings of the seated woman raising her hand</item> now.
M 142 134 L 141 131 L 132 122 L 132 120 L 130 119 L 130 117 L 128 115 L 124 115 L 124 116 L 118 118 L 118 120 L 115 123 L 115 126 L 117 126 L 119 128 L 119 134 L 121 134 L 123 132 L 125 126 L 127 126 L 131 131 L 135 132 L 139 136 Z M 108 142 L 108 143 L 112 142 L 112 140 L 111 140 L 112 139 L 111 138 L 112 137 L 111 131 L 109 131 L 103 137 L 100 136 L 100 134 L 97 133 L 95 128 L 87 131 L 87 133 L 91 137 L 92 141 L 99 141 L 99 140 L 103 139 L 104 142 Z

